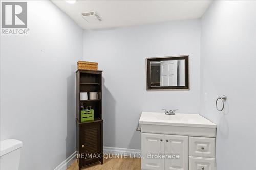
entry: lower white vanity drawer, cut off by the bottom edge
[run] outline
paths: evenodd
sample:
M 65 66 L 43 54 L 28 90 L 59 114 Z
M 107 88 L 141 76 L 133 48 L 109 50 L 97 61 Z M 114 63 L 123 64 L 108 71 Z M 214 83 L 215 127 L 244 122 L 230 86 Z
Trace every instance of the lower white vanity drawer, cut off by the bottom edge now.
M 216 170 L 214 158 L 189 157 L 189 170 Z

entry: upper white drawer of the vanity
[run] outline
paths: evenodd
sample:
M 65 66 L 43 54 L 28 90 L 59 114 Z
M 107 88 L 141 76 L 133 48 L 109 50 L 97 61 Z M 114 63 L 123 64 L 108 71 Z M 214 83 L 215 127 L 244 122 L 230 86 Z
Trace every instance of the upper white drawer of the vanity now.
M 189 156 L 215 158 L 215 138 L 189 137 Z

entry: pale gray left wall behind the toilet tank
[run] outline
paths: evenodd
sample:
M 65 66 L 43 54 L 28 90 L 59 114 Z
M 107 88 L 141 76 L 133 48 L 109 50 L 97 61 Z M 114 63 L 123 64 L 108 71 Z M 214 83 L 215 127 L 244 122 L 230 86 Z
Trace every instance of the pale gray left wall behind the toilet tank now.
M 75 151 L 75 70 L 83 30 L 50 1 L 28 1 L 28 36 L 1 36 L 1 140 L 20 170 L 52 170 Z

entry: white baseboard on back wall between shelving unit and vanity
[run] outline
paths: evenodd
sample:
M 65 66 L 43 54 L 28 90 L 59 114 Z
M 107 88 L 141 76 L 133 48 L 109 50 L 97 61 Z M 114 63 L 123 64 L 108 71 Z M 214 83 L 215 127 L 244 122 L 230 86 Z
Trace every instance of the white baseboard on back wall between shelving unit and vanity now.
M 141 150 L 129 148 L 103 147 L 104 154 L 140 154 Z

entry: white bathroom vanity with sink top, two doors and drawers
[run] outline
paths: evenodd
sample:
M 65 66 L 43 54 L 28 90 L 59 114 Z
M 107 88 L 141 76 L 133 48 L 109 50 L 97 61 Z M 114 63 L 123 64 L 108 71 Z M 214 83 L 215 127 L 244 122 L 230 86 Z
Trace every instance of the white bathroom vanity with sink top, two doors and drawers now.
M 141 169 L 216 169 L 217 125 L 206 118 L 199 114 L 142 112 L 139 123 Z

